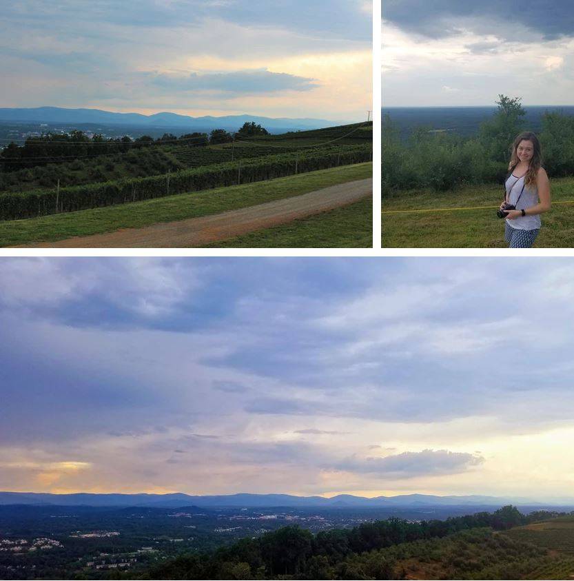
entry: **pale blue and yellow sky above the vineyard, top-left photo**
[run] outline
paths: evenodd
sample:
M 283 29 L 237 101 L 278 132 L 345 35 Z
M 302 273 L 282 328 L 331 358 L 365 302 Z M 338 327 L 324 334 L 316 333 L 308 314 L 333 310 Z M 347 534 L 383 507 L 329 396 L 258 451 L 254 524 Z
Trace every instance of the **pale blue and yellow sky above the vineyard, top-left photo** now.
M 0 107 L 362 121 L 371 0 L 3 3 Z

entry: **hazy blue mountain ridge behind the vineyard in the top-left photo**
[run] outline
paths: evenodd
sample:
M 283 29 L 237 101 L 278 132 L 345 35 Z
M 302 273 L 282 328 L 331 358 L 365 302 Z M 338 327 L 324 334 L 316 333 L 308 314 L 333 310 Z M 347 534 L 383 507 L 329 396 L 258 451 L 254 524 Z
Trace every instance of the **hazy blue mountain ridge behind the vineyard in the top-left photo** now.
M 339 121 L 327 121 L 326 119 L 289 119 L 287 117 L 272 118 L 257 115 L 225 115 L 214 117 L 192 117 L 170 112 L 161 112 L 153 115 L 140 113 L 114 113 L 101 109 L 66 109 L 61 107 L 37 107 L 25 108 L 0 108 L 0 121 L 23 121 L 41 123 L 107 123 L 110 125 L 138 125 L 203 129 L 221 128 L 238 129 L 246 121 L 254 121 L 265 128 L 283 130 L 320 129 L 343 125 Z

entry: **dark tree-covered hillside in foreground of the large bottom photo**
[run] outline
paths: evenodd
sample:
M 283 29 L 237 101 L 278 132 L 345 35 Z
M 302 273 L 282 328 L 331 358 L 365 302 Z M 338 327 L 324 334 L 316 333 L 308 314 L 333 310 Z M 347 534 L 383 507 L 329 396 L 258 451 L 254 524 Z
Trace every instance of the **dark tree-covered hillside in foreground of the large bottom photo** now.
M 507 533 L 547 516 L 524 516 L 509 506 L 447 520 L 391 518 L 316 536 L 283 527 L 214 553 L 181 555 L 153 567 L 146 578 L 529 579 L 574 572 L 568 555 Z

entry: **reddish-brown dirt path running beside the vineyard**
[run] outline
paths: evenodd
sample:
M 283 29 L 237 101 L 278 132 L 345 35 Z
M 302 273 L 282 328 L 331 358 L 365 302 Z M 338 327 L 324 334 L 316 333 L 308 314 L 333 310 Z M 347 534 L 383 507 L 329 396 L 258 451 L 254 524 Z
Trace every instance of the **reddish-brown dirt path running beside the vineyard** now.
M 327 212 L 359 201 L 373 192 L 373 180 L 331 185 L 309 192 L 201 218 L 164 222 L 143 228 L 125 228 L 106 234 L 75 236 L 57 242 L 36 243 L 34 248 L 186 248 L 225 240 L 254 230 Z

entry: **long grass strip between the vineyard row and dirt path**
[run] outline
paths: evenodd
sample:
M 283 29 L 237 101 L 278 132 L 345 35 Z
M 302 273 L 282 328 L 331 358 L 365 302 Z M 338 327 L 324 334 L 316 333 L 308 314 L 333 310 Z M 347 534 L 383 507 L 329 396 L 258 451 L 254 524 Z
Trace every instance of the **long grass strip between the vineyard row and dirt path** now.
M 143 202 L 0 222 L 0 246 L 57 241 L 72 236 L 113 232 L 120 228 L 139 228 L 159 222 L 172 222 L 237 210 L 270 202 L 322 187 L 372 176 L 372 163 L 358 163 L 329 170 L 308 172 L 203 192 L 178 194 Z

